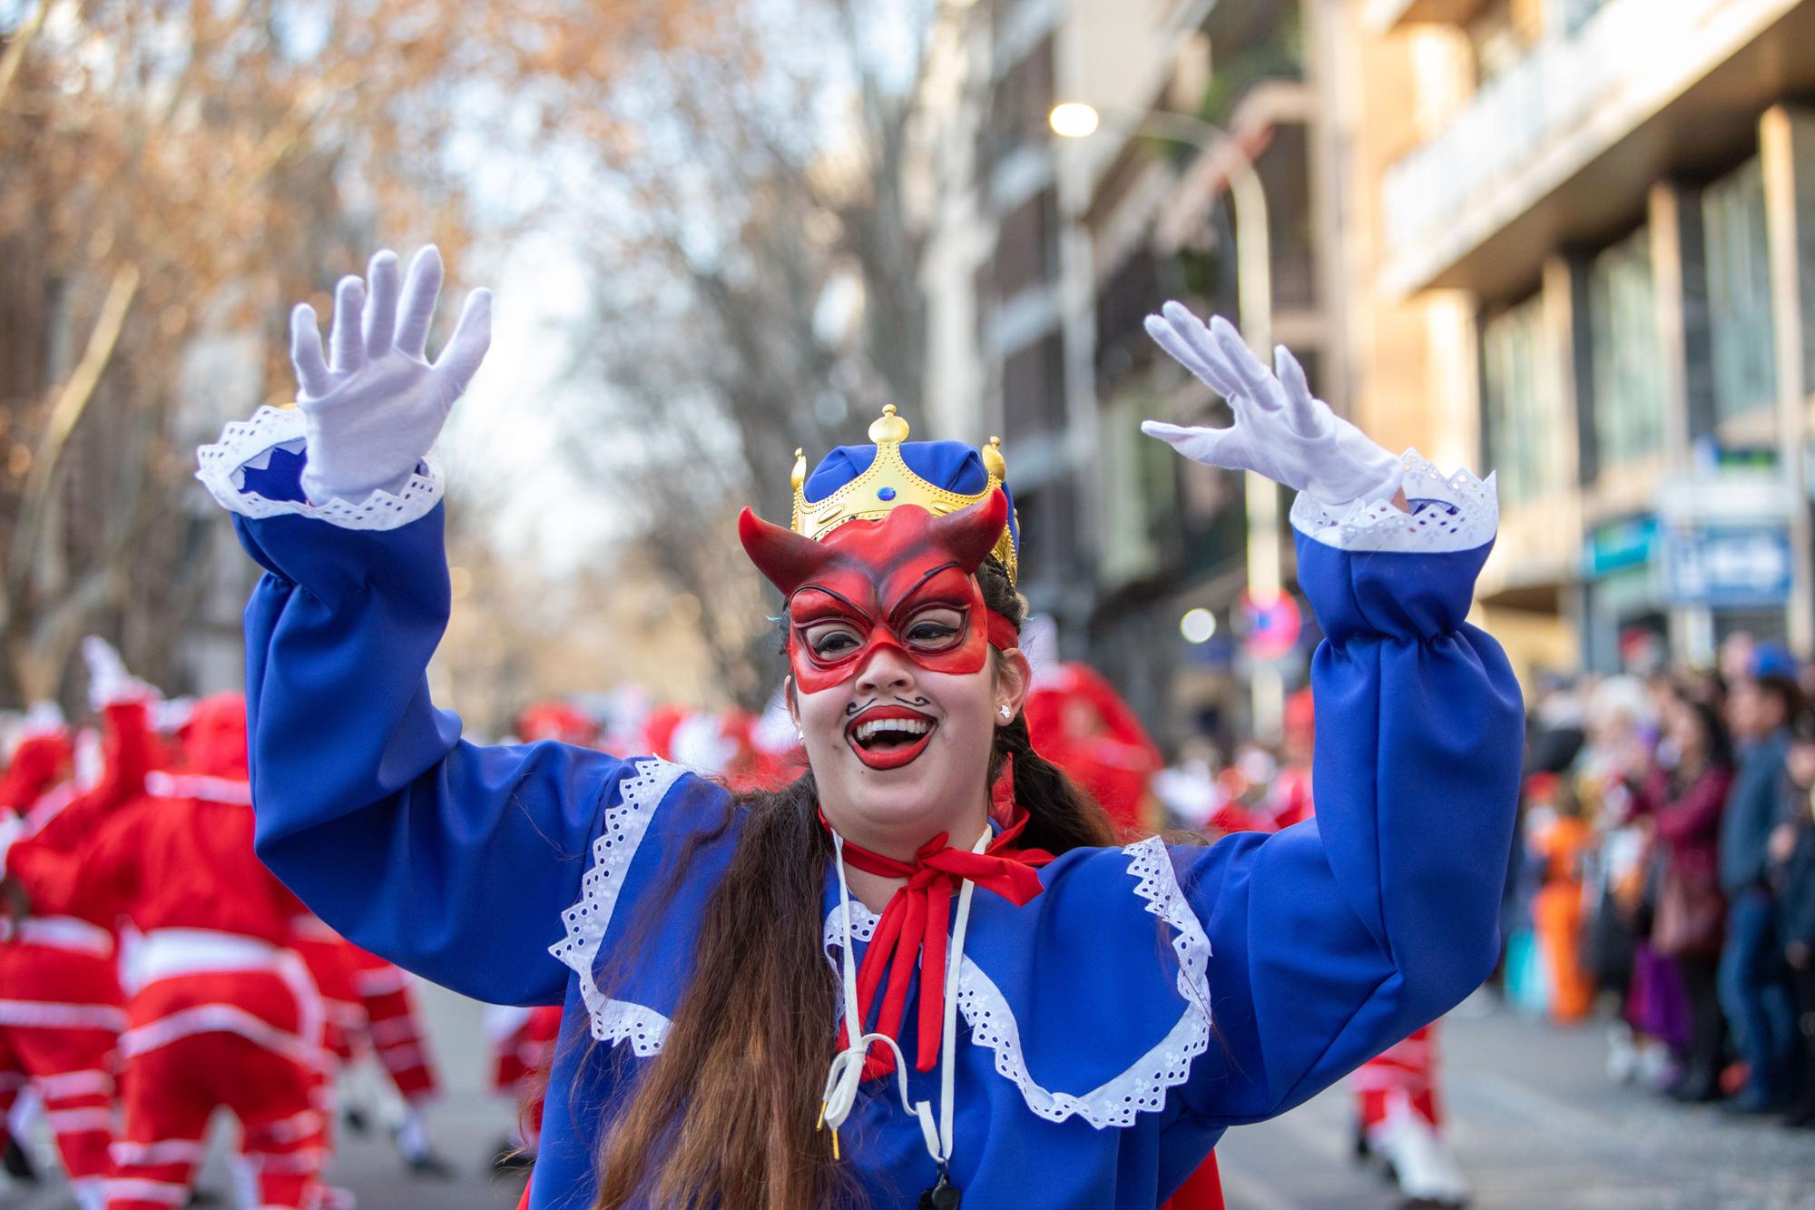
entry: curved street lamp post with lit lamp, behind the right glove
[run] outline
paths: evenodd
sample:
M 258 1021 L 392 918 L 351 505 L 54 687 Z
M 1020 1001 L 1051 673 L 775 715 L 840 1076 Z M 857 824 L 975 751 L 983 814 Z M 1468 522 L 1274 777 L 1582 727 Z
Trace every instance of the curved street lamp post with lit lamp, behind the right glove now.
M 1167 138 L 1198 149 L 1231 154 L 1229 198 L 1234 209 L 1236 294 L 1241 340 L 1263 362 L 1272 358 L 1272 245 L 1267 227 L 1267 191 L 1252 156 L 1229 131 L 1185 113 L 1114 114 L 1133 134 Z M 1062 102 L 1047 114 L 1053 133 L 1062 138 L 1089 138 L 1102 127 L 1102 114 L 1084 102 Z M 1243 474 L 1247 505 L 1247 581 L 1258 605 L 1270 605 L 1281 590 L 1280 576 L 1280 489 L 1272 480 Z M 1256 661 L 1249 676 L 1254 732 L 1276 738 L 1285 709 L 1285 679 L 1272 660 Z

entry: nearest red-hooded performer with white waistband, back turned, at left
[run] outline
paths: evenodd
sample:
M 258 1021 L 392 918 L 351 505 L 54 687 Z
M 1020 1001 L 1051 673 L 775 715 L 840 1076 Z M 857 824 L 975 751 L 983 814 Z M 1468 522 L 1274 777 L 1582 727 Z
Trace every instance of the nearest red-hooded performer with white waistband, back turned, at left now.
M 296 899 L 252 852 L 245 701 L 196 705 L 182 772 L 151 774 L 80 854 L 18 852 L 40 912 L 142 934 L 120 1036 L 122 1130 L 107 1210 L 182 1205 L 216 1108 L 243 1128 L 263 1206 L 312 1206 L 319 1186 L 321 999 L 289 948 Z

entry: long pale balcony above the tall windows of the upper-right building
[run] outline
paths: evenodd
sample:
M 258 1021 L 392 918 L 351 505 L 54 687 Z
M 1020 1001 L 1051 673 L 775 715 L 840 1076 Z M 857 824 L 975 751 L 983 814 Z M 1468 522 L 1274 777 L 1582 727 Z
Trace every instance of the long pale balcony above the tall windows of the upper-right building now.
M 1715 173 L 1759 114 L 1815 89 L 1815 4 L 1608 0 L 1387 171 L 1383 293 L 1508 298 L 1546 251 L 1597 243 L 1670 174 Z

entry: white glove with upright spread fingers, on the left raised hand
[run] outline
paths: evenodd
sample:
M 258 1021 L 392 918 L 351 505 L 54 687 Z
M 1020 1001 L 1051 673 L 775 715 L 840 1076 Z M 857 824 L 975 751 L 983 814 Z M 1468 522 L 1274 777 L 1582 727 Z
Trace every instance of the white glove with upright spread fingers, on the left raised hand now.
M 303 492 L 316 503 L 359 503 L 376 489 L 408 483 L 492 343 L 492 293 L 477 289 L 436 363 L 423 358 L 441 293 L 441 253 L 432 243 L 410 262 L 401 307 L 397 293 L 390 251 L 372 258 L 367 282 L 341 278 L 327 362 L 314 307 L 290 312 L 296 405 L 309 441 Z

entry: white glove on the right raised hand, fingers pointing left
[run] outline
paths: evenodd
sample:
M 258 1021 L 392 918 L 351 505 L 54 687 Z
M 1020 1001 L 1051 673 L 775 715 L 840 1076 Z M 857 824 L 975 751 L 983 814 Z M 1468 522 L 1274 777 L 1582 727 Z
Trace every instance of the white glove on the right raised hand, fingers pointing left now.
M 1183 303 L 1147 316 L 1147 334 L 1180 365 L 1229 400 L 1227 429 L 1147 420 L 1140 431 L 1192 461 L 1258 471 L 1325 505 L 1387 500 L 1399 491 L 1399 460 L 1310 394 L 1305 371 L 1285 345 L 1274 349 L 1276 374 L 1261 365 L 1229 320 L 1203 327 Z M 1162 318 L 1163 316 L 1163 318 Z

